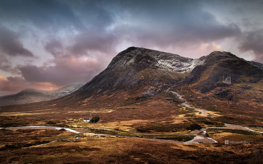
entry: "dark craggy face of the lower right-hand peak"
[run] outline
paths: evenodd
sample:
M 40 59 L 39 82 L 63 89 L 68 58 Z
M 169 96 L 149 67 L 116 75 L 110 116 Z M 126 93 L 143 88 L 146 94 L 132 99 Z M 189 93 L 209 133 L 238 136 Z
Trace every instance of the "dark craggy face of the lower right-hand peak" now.
M 215 51 L 201 57 L 204 64 L 196 66 L 185 83 L 196 83 L 202 93 L 209 92 L 218 86 L 227 87 L 233 83 L 259 81 L 263 78 L 259 64 L 245 61 L 230 52 Z

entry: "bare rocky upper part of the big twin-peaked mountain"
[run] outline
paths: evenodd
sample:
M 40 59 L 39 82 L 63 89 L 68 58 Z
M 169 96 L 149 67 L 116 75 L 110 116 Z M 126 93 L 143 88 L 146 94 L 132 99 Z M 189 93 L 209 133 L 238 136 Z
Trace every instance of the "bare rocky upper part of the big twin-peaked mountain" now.
M 212 92 L 213 97 L 230 100 L 245 91 L 245 85 L 259 84 L 253 89 L 261 92 L 262 65 L 238 58 L 230 52 L 215 51 L 191 59 L 129 47 L 114 57 L 103 72 L 75 92 L 74 97 L 85 99 L 129 90 L 138 99 L 160 94 L 169 88 L 180 91 L 187 87 L 198 93 Z

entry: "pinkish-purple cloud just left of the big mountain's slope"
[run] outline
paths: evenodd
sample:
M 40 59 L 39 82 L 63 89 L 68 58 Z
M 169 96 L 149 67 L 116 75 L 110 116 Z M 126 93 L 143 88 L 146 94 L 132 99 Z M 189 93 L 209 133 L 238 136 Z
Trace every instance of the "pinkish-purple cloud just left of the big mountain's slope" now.
M 20 66 L 22 77 L 28 82 L 50 82 L 57 86 L 86 83 L 104 69 L 97 59 L 57 57 L 50 66 Z

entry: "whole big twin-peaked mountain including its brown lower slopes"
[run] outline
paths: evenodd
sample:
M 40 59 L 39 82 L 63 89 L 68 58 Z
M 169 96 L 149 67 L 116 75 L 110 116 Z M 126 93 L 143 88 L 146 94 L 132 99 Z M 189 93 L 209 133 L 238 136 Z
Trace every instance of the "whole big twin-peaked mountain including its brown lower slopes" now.
M 222 123 L 262 125 L 262 88 L 262 64 L 230 52 L 215 51 L 191 59 L 129 47 L 118 53 L 104 71 L 71 94 L 33 104 L 1 106 L 0 110 L 45 111 L 45 115 L 39 113 L 42 122 L 87 115 L 99 115 L 101 123 L 154 120 L 158 126 L 149 123 L 140 128 L 155 130 L 158 127 L 189 130 Z M 182 110 L 182 106 L 187 107 Z M 193 112 L 192 106 L 216 117 Z M 181 122 L 173 123 L 175 118 Z M 139 126 L 134 123 L 133 127 Z

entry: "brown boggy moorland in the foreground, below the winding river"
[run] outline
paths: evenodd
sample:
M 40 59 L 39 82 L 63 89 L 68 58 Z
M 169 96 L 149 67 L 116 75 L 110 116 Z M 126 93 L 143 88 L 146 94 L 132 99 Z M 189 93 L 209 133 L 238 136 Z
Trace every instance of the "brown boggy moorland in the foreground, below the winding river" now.
M 77 142 L 57 141 L 39 145 L 39 140 L 67 140 L 77 135 L 81 139 Z M 226 136 L 240 137 L 231 132 L 218 132 L 212 136 L 219 141 Z M 0 129 L 0 159 L 1 163 L 262 163 L 263 140 L 258 135 L 253 136 L 256 142 L 250 144 L 177 144 L 138 138 L 96 137 L 61 130 Z M 6 145 L 9 145 L 8 149 Z

